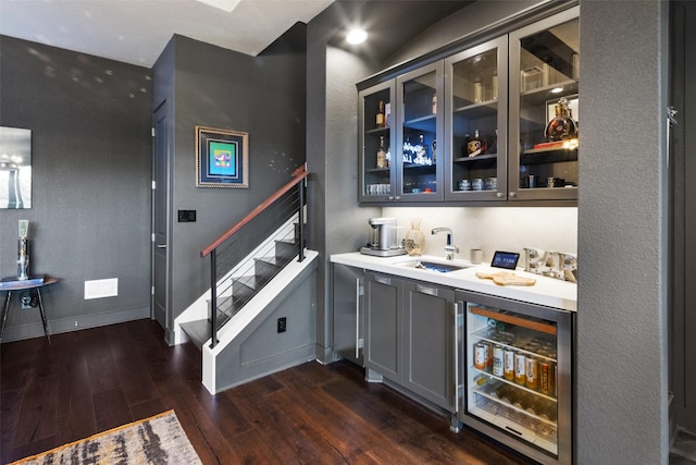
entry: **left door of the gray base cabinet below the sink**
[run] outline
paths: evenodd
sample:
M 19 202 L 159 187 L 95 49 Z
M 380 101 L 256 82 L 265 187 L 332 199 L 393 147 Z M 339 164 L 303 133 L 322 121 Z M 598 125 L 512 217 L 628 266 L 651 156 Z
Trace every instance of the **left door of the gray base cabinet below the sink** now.
M 365 368 L 368 379 L 403 382 L 402 282 L 387 276 L 365 277 Z M 374 377 L 370 370 L 378 375 Z

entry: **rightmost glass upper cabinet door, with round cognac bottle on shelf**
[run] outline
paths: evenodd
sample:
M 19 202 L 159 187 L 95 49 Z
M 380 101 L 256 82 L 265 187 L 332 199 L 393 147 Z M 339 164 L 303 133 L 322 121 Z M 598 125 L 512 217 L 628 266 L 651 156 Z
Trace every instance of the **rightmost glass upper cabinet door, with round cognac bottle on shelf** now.
M 510 34 L 510 200 L 577 199 L 580 7 Z

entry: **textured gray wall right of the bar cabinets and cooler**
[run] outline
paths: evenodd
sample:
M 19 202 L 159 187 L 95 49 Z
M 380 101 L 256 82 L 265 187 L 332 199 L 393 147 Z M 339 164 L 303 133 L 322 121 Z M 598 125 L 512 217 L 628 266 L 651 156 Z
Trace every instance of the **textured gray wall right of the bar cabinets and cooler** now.
M 581 3 L 581 464 L 667 463 L 667 7 Z

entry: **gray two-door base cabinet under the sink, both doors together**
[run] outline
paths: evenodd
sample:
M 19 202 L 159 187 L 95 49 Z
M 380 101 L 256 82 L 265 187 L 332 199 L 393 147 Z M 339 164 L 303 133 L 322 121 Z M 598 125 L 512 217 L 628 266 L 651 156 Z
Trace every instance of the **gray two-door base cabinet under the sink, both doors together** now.
M 365 279 L 365 368 L 455 412 L 457 331 L 455 291 L 369 273 Z

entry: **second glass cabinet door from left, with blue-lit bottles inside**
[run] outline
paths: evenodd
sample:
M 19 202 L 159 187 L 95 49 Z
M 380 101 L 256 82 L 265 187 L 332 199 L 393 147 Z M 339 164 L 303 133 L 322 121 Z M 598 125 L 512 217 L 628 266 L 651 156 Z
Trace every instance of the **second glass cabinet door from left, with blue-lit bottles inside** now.
M 396 78 L 397 196 L 402 201 L 442 201 L 443 62 Z M 438 145 L 439 144 L 439 145 Z

